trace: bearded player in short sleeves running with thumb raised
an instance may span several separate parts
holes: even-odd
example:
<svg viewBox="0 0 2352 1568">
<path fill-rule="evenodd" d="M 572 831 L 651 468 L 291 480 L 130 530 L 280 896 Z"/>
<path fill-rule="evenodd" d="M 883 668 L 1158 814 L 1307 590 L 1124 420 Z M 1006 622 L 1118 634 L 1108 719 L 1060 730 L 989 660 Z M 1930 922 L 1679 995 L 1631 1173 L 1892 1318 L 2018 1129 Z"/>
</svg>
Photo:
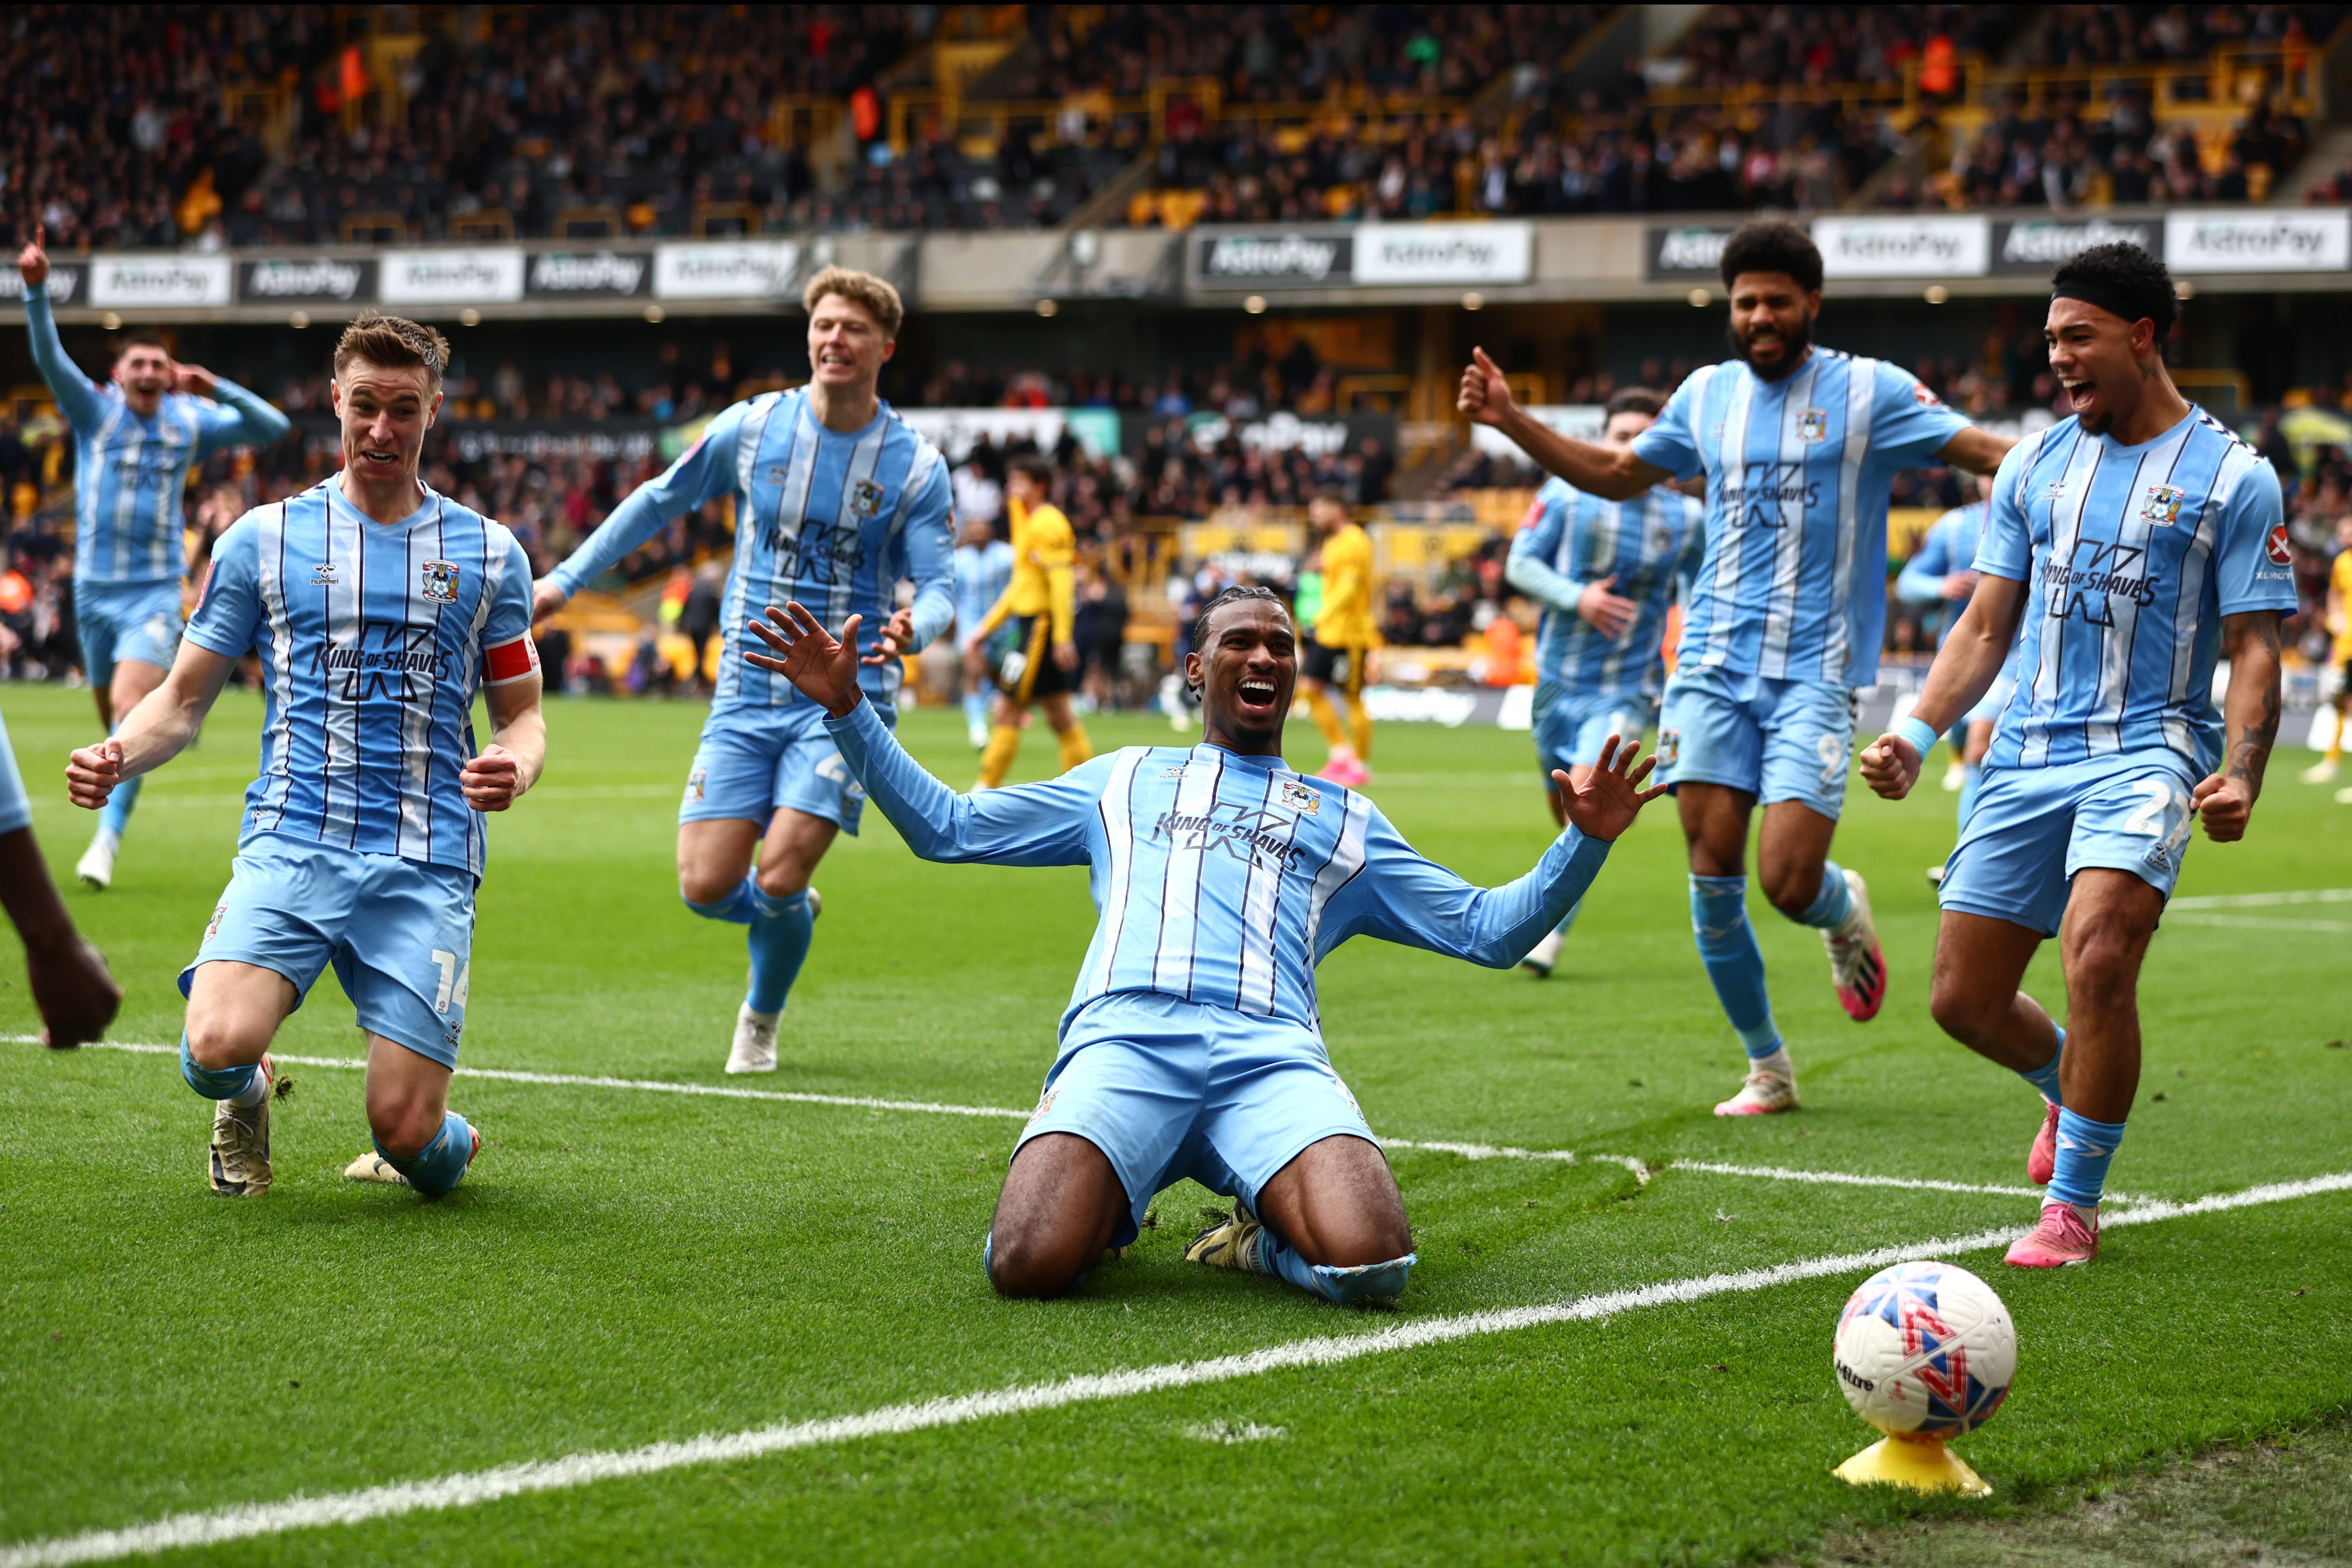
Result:
<svg viewBox="0 0 2352 1568">
<path fill-rule="evenodd" d="M 1757 1117 L 1797 1107 L 1797 1072 L 1748 926 L 1748 818 L 1764 806 L 1764 896 L 1820 931 L 1846 1013 L 1877 1018 L 1886 964 L 1870 896 L 1830 860 L 1830 837 L 1853 693 L 1879 668 L 1886 489 L 1896 468 L 1922 463 L 1992 473 L 2009 442 L 1893 364 L 1813 346 L 1820 252 L 1795 223 L 1740 228 L 1722 275 L 1738 357 L 1693 371 L 1630 449 L 1531 418 L 1484 350 L 1463 371 L 1461 411 L 1592 496 L 1708 477 L 1708 550 L 1665 684 L 1658 762 L 1691 846 L 1698 957 L 1748 1048 L 1748 1077 L 1715 1114 Z"/>
</svg>

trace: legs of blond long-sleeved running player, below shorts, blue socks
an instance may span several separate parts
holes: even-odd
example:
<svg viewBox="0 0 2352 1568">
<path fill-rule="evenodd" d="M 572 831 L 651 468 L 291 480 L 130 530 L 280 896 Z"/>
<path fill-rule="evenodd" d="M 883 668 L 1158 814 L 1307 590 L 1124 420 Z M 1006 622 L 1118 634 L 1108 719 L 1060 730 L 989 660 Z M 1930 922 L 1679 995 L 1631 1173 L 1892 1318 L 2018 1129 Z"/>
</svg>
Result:
<svg viewBox="0 0 2352 1568">
<path fill-rule="evenodd" d="M 753 973 L 736 1009 L 727 1072 L 776 1070 L 776 1020 L 809 952 L 809 926 L 823 907 L 809 877 L 835 835 L 835 823 L 790 806 L 774 811 L 764 835 L 760 823 L 743 818 L 677 825 L 677 896 L 696 914 L 750 926 Z"/>
</svg>

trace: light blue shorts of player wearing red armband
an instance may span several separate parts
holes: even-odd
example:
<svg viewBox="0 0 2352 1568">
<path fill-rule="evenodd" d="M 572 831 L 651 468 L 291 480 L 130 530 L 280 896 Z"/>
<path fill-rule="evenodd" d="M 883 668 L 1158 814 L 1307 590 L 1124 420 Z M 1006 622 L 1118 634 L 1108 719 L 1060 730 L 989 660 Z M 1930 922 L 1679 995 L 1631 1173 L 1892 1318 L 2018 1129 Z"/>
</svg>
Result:
<svg viewBox="0 0 2352 1568">
<path fill-rule="evenodd" d="M 238 846 L 228 889 L 183 971 L 214 959 L 275 969 L 294 1006 L 327 964 L 360 1027 L 442 1067 L 456 1067 L 473 964 L 473 872 L 334 844 L 254 835 Z"/>
</svg>

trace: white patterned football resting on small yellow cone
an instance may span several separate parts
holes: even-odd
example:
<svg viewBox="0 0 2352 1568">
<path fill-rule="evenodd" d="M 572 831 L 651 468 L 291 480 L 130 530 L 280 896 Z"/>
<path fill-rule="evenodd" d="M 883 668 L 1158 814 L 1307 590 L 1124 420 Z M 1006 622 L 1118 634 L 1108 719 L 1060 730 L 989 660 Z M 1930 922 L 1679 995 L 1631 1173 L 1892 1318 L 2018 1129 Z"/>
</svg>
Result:
<svg viewBox="0 0 2352 1568">
<path fill-rule="evenodd" d="M 1846 1298 L 1832 1361 L 1846 1403 L 1879 1432 L 1959 1436 L 2002 1408 L 2018 1331 L 1969 1269 L 1900 1262 Z"/>
</svg>

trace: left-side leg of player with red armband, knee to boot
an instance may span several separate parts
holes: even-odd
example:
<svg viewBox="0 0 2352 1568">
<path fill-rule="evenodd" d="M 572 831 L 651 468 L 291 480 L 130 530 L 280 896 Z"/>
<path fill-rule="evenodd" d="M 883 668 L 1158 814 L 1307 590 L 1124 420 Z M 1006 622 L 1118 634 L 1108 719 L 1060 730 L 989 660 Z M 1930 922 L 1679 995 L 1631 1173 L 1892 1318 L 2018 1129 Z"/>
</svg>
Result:
<svg viewBox="0 0 2352 1568">
<path fill-rule="evenodd" d="M 275 969 L 214 959 L 188 978 L 179 1070 L 212 1100 L 207 1180 L 221 1197 L 270 1190 L 270 1039 L 301 997 Z"/>
</svg>

